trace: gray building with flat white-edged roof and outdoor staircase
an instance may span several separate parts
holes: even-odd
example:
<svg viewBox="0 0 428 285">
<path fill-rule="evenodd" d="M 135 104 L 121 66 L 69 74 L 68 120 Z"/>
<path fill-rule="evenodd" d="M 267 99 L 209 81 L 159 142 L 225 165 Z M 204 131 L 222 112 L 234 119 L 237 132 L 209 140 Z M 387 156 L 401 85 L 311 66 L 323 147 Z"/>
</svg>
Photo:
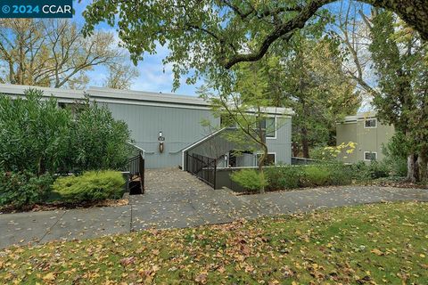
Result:
<svg viewBox="0 0 428 285">
<path fill-rule="evenodd" d="M 105 104 L 114 118 L 124 120 L 131 131 L 136 147 L 144 150 L 145 166 L 185 167 L 187 153 L 220 159 L 219 166 L 252 167 L 257 165 L 258 153 L 244 151 L 235 156 L 238 149 L 221 135 L 233 131 L 226 128 L 213 131 L 202 126 L 208 119 L 211 126 L 219 126 L 220 118 L 214 118 L 210 104 L 201 98 L 176 94 L 115 90 L 91 87 L 87 90 L 66 90 L 28 85 L 0 85 L 0 94 L 21 96 L 29 88 L 53 95 L 60 106 L 72 104 L 88 94 L 91 101 Z M 279 126 L 274 134 L 267 135 L 269 160 L 275 163 L 291 163 L 292 110 L 268 108 L 268 124 Z"/>
</svg>

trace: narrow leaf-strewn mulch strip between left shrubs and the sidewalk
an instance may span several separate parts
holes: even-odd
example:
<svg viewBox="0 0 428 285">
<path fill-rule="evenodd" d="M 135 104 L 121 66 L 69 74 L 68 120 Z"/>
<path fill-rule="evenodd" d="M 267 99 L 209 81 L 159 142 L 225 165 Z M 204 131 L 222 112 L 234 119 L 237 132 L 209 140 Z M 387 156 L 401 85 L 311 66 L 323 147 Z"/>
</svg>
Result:
<svg viewBox="0 0 428 285">
<path fill-rule="evenodd" d="M 129 204 L 128 199 L 105 199 L 103 201 L 85 202 L 85 203 L 79 203 L 79 204 L 53 202 L 53 203 L 45 203 L 45 204 L 34 204 L 32 206 L 24 207 L 24 208 L 4 207 L 4 208 L 0 208 L 0 214 L 52 211 L 52 210 L 70 209 L 70 208 L 119 207 L 119 206 L 125 206 L 128 204 Z"/>
</svg>

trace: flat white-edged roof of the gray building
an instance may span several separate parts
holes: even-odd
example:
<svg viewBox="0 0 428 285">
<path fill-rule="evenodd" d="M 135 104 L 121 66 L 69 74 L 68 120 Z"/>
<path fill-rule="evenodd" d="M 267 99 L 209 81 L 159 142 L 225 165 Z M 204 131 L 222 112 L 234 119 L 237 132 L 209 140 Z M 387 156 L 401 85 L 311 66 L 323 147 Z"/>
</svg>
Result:
<svg viewBox="0 0 428 285">
<path fill-rule="evenodd" d="M 110 102 L 122 104 L 137 104 L 163 107 L 178 107 L 188 109 L 210 109 L 210 102 L 195 96 L 179 94 L 163 94 L 134 90 L 119 90 L 105 87 L 89 87 L 82 89 L 60 89 L 31 85 L 0 84 L 0 94 L 23 95 L 25 90 L 37 88 L 44 92 L 46 97 L 53 95 L 60 102 L 73 102 L 85 98 L 85 94 L 96 102 Z M 289 108 L 268 107 L 265 111 L 269 114 L 292 115 Z"/>
</svg>

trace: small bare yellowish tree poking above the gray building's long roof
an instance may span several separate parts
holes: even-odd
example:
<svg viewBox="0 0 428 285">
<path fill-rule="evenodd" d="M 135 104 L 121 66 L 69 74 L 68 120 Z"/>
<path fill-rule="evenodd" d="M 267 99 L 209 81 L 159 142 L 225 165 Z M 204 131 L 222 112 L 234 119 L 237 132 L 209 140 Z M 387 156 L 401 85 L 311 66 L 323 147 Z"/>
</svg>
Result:
<svg viewBox="0 0 428 285">
<path fill-rule="evenodd" d="M 114 89 L 129 89 L 139 75 L 138 69 L 134 66 L 112 63 L 109 65 L 109 75 L 105 79 L 104 86 Z"/>
</svg>

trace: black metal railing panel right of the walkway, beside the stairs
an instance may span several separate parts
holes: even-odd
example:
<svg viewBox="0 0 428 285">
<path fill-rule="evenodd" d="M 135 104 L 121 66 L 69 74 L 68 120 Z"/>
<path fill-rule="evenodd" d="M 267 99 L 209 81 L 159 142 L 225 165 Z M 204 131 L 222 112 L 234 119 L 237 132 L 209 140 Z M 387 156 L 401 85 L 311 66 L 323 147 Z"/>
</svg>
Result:
<svg viewBox="0 0 428 285">
<path fill-rule="evenodd" d="M 220 158 L 218 158 L 220 159 Z M 218 159 L 204 157 L 200 154 L 185 154 L 185 166 L 187 172 L 197 176 L 204 183 L 216 189 L 216 174 Z"/>
</svg>

